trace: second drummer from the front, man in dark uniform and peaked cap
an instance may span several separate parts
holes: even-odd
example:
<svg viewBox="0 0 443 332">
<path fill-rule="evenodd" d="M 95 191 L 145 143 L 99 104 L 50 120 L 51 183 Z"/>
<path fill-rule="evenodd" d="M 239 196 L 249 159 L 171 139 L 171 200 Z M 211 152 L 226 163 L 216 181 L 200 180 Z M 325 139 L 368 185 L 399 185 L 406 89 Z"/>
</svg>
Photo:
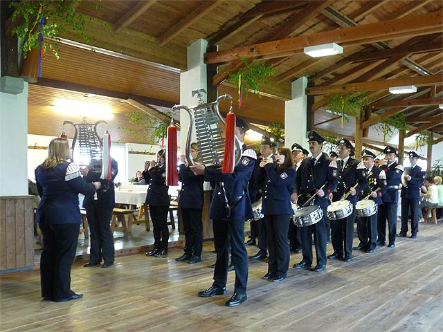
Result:
<svg viewBox="0 0 443 332">
<path fill-rule="evenodd" d="M 343 259 L 344 261 L 352 260 L 352 241 L 354 239 L 354 222 L 355 222 L 355 204 L 359 198 L 359 192 L 368 184 L 366 178 L 366 167 L 363 163 L 355 160 L 350 156 L 354 149 L 352 143 L 346 138 L 338 141 L 338 185 L 337 189 L 332 193 L 332 201 L 340 201 L 342 196 L 350 192 L 347 201 L 354 206 L 352 214 L 343 218 L 331 221 L 331 239 L 334 253 L 329 255 L 329 259 Z M 354 185 L 357 185 L 354 188 Z"/>
</svg>

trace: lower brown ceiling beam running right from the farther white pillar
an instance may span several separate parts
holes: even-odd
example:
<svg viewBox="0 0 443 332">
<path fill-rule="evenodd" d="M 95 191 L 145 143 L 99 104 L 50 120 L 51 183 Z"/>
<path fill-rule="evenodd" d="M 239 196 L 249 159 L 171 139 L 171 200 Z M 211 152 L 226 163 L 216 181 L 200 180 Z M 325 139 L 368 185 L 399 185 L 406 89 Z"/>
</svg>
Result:
<svg viewBox="0 0 443 332">
<path fill-rule="evenodd" d="M 332 86 L 314 86 L 306 89 L 307 95 L 329 95 L 331 93 L 348 93 L 355 91 L 377 91 L 389 89 L 390 86 L 428 86 L 443 84 L 443 74 L 420 76 L 420 77 L 402 77 L 394 80 L 376 80 L 371 82 L 350 83 Z"/>
</svg>

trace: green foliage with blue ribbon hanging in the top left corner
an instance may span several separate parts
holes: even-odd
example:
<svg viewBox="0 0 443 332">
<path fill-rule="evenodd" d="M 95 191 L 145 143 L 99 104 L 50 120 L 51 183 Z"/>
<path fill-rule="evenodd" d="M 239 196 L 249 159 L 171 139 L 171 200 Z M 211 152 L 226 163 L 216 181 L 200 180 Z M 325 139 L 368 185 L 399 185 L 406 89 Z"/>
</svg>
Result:
<svg viewBox="0 0 443 332">
<path fill-rule="evenodd" d="M 12 21 L 18 21 L 17 26 L 12 29 L 12 35 L 16 35 L 23 41 L 21 46 L 23 55 L 26 57 L 33 48 L 39 48 L 39 24 L 44 17 L 43 24 L 43 51 L 47 49 L 59 59 L 59 46 L 56 42 L 48 39 L 57 39 L 60 33 L 66 33 L 65 26 L 71 26 L 77 35 L 89 42 L 87 35 L 84 33 L 86 29 L 86 21 L 84 16 L 75 11 L 75 3 L 78 0 L 39 0 L 39 1 L 12 1 L 10 8 L 12 12 Z M 98 7 L 96 7 L 98 8 Z"/>
</svg>

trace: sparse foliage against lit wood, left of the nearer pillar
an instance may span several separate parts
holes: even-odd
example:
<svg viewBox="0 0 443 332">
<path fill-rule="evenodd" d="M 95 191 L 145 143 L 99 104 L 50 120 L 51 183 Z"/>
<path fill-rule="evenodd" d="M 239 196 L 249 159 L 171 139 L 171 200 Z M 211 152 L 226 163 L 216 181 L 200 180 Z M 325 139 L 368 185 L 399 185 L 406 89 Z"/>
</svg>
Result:
<svg viewBox="0 0 443 332">
<path fill-rule="evenodd" d="M 171 112 L 165 114 L 170 117 L 172 116 Z M 163 122 L 143 111 L 127 113 L 126 116 L 129 116 L 129 123 L 134 124 L 135 128 L 118 127 L 118 129 L 123 129 L 125 133 L 130 133 L 132 138 L 139 138 L 141 143 L 154 145 L 159 142 L 159 140 L 166 138 L 170 122 Z"/>
</svg>

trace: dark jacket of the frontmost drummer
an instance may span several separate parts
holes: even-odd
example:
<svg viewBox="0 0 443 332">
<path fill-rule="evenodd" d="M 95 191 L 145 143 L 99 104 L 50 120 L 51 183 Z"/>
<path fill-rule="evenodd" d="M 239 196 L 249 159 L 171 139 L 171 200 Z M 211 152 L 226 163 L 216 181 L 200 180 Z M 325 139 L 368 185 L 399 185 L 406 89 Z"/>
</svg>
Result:
<svg viewBox="0 0 443 332">
<path fill-rule="evenodd" d="M 312 157 L 303 159 L 297 169 L 293 190 L 293 192 L 301 194 L 298 205 L 302 206 L 322 185 L 325 185 L 323 187 L 325 196 L 317 196 L 314 199 L 314 204 L 326 208 L 329 205 L 328 195 L 337 187 L 337 163 L 325 153 L 321 154 L 315 166 Z"/>
</svg>

